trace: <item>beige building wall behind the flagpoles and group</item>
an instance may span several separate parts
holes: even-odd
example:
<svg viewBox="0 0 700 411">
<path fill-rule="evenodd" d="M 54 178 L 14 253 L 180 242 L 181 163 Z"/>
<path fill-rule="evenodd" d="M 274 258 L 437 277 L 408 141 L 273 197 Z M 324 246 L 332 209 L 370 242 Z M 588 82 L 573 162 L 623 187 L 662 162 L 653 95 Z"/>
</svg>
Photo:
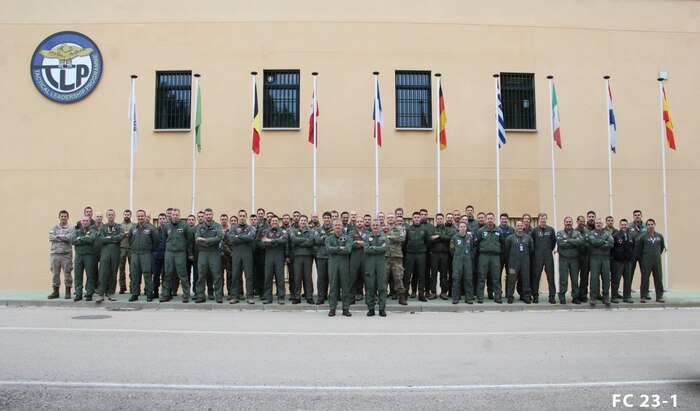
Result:
<svg viewBox="0 0 700 411">
<path fill-rule="evenodd" d="M 394 71 L 430 70 L 443 75 L 448 115 L 442 211 L 468 203 L 495 211 L 492 75 L 526 72 L 535 74 L 537 132 L 507 134 L 502 210 L 552 214 L 551 74 L 564 144 L 556 151 L 558 220 L 588 209 L 607 215 L 607 74 L 618 124 L 615 217 L 630 218 L 641 208 L 661 232 L 656 78 L 667 71 L 678 145 L 667 151 L 668 274 L 673 289 L 700 289 L 691 240 L 700 199 L 698 2 L 14 0 L 0 7 L 0 213 L 8 225 L 0 240 L 3 289 L 50 287 L 47 231 L 58 210 L 69 210 L 75 223 L 88 204 L 119 215 L 128 206 L 131 74 L 139 76 L 140 119 L 134 207 L 154 215 L 168 206 L 190 209 L 192 133 L 154 132 L 153 117 L 155 72 L 192 70 L 202 74 L 197 209 L 249 209 L 249 73 L 264 69 L 301 71 L 301 128 L 263 130 L 256 206 L 311 212 L 312 146 L 306 139 L 311 72 L 318 71 L 318 208 L 374 211 L 377 70 L 385 118 L 380 208 L 426 207 L 434 214 L 434 131 L 394 128 Z M 64 30 L 90 37 L 104 60 L 96 90 L 69 105 L 40 95 L 27 64 L 44 38 Z"/>
</svg>

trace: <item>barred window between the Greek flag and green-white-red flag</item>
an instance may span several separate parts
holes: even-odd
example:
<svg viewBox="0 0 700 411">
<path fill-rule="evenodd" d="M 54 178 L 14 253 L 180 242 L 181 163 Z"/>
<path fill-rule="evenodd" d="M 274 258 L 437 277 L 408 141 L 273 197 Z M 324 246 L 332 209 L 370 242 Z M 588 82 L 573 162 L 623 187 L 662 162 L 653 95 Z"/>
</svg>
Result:
<svg viewBox="0 0 700 411">
<path fill-rule="evenodd" d="M 537 129 L 534 74 L 501 73 L 501 97 L 506 129 Z"/>
</svg>

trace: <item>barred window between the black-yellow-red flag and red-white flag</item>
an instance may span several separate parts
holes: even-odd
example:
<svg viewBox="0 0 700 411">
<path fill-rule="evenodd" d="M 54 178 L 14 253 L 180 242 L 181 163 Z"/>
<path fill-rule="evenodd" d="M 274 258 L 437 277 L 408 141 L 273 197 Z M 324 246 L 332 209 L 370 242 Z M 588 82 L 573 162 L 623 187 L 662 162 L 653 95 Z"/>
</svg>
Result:
<svg viewBox="0 0 700 411">
<path fill-rule="evenodd" d="M 299 70 L 263 72 L 263 128 L 299 128 Z"/>
</svg>

